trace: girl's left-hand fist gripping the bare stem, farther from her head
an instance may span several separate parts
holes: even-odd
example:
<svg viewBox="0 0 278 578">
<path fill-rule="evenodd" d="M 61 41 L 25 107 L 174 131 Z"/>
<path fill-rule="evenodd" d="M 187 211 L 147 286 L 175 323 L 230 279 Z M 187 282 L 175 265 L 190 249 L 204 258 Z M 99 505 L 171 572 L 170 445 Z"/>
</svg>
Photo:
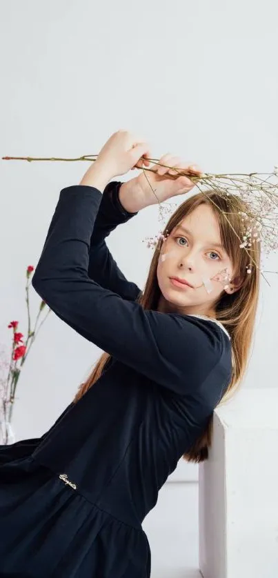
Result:
<svg viewBox="0 0 278 578">
<path fill-rule="evenodd" d="M 148 143 L 127 130 L 118 130 L 101 148 L 94 166 L 98 167 L 102 174 L 108 175 L 109 180 L 124 175 L 132 167 L 135 168 L 139 159 L 141 166 L 142 163 L 149 166 L 150 161 L 146 161 L 146 157 L 150 157 Z"/>
</svg>

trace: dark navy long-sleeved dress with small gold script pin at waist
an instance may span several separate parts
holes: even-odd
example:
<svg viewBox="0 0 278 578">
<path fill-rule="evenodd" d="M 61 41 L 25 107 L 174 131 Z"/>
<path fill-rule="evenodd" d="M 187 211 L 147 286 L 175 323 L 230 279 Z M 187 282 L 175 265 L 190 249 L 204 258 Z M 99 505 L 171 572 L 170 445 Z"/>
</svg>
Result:
<svg viewBox="0 0 278 578">
<path fill-rule="evenodd" d="M 133 214 L 121 183 L 60 192 L 32 285 L 112 355 L 38 439 L 0 446 L 0 577 L 149 578 L 141 526 L 232 371 L 217 323 L 144 310 L 105 238 Z"/>
</svg>

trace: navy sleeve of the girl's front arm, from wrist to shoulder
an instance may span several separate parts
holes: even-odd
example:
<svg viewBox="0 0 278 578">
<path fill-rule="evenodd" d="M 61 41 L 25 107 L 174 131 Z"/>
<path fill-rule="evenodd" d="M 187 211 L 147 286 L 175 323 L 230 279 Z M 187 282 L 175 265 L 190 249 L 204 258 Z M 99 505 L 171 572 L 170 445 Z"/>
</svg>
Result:
<svg viewBox="0 0 278 578">
<path fill-rule="evenodd" d="M 56 315 L 88 341 L 180 394 L 202 388 L 224 348 L 215 323 L 144 310 L 88 276 L 90 239 L 101 192 L 61 190 L 32 286 Z"/>
</svg>

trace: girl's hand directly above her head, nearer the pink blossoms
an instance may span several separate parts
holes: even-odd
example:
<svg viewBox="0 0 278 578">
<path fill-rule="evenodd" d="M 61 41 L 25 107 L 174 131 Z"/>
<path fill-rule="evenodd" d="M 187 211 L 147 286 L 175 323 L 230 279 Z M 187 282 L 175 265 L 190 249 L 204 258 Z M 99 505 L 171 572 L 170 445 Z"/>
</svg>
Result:
<svg viewBox="0 0 278 578">
<path fill-rule="evenodd" d="M 163 202 L 176 195 L 183 195 L 195 186 L 194 181 L 191 181 L 190 177 L 181 176 L 173 179 L 172 177 L 178 174 L 173 167 L 188 172 L 190 176 L 198 177 L 202 174 L 201 169 L 197 165 L 188 165 L 188 163 L 181 161 L 179 157 L 174 157 L 171 153 L 163 155 L 159 159 L 159 163 L 170 168 L 153 164 L 145 174 L 142 171 L 138 177 L 128 181 L 130 182 L 130 188 L 132 183 L 137 191 L 141 192 L 145 206 L 156 204 L 158 202 L 157 199 L 159 199 L 159 202 Z M 142 168 L 141 161 L 137 163 L 137 168 Z M 152 189 L 155 190 L 155 195 Z"/>
</svg>

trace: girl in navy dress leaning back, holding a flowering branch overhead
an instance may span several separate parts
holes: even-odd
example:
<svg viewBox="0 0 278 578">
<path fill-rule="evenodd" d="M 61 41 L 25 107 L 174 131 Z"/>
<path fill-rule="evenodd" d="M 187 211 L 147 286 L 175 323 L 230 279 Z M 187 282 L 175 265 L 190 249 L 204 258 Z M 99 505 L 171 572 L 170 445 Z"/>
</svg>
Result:
<svg viewBox="0 0 278 578">
<path fill-rule="evenodd" d="M 163 201 L 194 186 L 156 165 L 110 182 L 146 157 L 146 143 L 116 132 L 61 190 L 32 284 L 104 353 L 46 434 L 0 448 L 2 578 L 149 578 L 143 519 L 181 456 L 206 459 L 213 410 L 246 367 L 259 273 L 246 274 L 236 237 L 242 201 L 186 199 L 143 291 L 110 255 L 106 237 L 157 202 L 152 189 Z M 190 174 L 171 155 L 161 163 Z"/>
</svg>

